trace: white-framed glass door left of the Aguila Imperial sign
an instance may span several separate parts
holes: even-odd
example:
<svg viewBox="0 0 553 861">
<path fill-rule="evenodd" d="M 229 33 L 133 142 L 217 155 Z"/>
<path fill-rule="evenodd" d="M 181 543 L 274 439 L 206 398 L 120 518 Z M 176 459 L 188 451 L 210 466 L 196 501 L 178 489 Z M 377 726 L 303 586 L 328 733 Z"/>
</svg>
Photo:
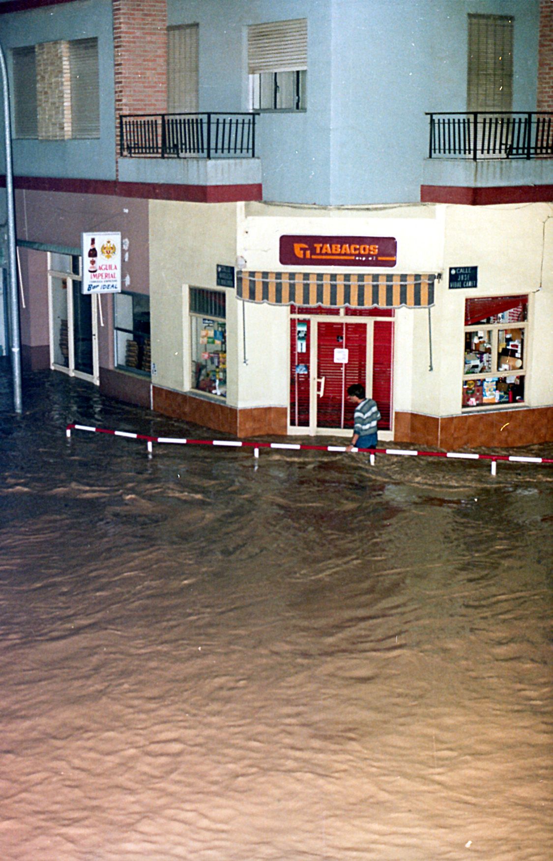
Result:
<svg viewBox="0 0 553 861">
<path fill-rule="evenodd" d="M 51 367 L 98 385 L 97 296 L 81 293 L 80 257 L 48 257 Z"/>
</svg>

